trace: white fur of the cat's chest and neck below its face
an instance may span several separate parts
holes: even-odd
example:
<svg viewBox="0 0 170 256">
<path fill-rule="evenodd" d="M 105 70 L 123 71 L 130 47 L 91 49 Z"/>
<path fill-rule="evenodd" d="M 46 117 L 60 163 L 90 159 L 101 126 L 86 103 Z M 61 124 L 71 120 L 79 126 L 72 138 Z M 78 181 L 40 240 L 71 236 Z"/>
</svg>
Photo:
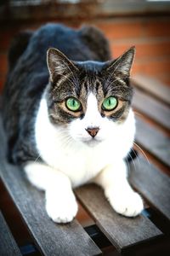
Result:
<svg viewBox="0 0 170 256">
<path fill-rule="evenodd" d="M 47 103 L 42 99 L 35 125 L 38 152 L 48 166 L 70 177 L 73 187 L 79 186 L 95 177 L 114 159 L 122 159 L 127 154 L 133 143 L 132 113 L 128 119 L 125 125 L 116 129 L 115 137 L 111 135 L 102 143 L 89 147 L 71 138 L 67 127 L 61 129 L 50 123 Z"/>
</svg>

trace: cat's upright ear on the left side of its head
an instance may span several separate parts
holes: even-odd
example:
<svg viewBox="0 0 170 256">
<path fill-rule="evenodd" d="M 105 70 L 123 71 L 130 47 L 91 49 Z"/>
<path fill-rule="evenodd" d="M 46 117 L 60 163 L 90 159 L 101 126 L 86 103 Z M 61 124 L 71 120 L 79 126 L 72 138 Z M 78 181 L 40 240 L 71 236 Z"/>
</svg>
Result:
<svg viewBox="0 0 170 256">
<path fill-rule="evenodd" d="M 50 80 L 52 82 L 62 79 L 70 73 L 74 73 L 78 68 L 59 49 L 50 48 L 47 52 L 47 63 Z"/>
</svg>

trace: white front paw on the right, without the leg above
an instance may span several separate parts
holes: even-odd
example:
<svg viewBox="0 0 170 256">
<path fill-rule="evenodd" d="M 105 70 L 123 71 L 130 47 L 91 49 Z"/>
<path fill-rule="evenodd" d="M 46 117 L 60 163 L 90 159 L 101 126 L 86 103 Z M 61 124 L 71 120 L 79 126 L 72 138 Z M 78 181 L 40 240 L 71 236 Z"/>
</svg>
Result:
<svg viewBox="0 0 170 256">
<path fill-rule="evenodd" d="M 114 210 L 127 217 L 135 217 L 144 209 L 140 195 L 133 191 L 107 197 Z"/>
</svg>

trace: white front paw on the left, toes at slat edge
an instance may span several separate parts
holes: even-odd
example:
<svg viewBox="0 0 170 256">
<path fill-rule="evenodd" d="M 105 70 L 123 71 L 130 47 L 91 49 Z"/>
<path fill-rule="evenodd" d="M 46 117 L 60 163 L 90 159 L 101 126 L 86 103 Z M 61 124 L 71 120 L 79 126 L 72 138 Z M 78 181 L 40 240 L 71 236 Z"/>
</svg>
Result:
<svg viewBox="0 0 170 256">
<path fill-rule="evenodd" d="M 69 223 L 77 215 L 77 201 L 72 193 L 56 195 L 46 191 L 46 210 L 49 218 L 56 223 Z"/>
</svg>

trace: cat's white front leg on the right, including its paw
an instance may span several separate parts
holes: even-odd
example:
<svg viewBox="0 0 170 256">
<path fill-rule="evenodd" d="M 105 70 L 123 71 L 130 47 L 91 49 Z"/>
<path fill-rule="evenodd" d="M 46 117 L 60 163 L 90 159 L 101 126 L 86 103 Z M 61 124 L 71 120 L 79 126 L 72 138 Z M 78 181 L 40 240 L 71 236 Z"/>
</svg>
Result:
<svg viewBox="0 0 170 256">
<path fill-rule="evenodd" d="M 105 167 L 94 178 L 94 183 L 104 189 L 106 198 L 116 212 L 127 217 L 134 217 L 143 210 L 140 195 L 134 192 L 127 182 L 127 170 L 123 161 L 117 161 L 114 165 Z"/>
</svg>

